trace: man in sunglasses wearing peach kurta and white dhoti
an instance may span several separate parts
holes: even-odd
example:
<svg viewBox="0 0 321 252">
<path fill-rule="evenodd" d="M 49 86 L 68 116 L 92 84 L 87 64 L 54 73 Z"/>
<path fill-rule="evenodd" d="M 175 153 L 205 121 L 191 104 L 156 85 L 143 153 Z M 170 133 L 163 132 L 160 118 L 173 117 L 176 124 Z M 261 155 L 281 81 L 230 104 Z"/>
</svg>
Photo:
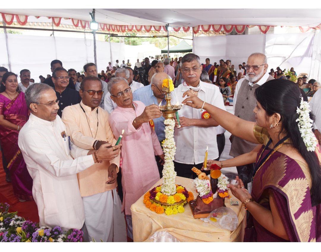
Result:
<svg viewBox="0 0 321 252">
<path fill-rule="evenodd" d="M 62 120 L 71 141 L 82 148 L 85 154 L 88 150 L 98 149 L 102 143 L 115 145 L 116 140 L 108 123 L 107 111 L 98 107 L 102 95 L 98 95 L 97 92 L 90 95 L 88 91 L 84 91 L 102 90 L 100 80 L 93 76 L 86 77 L 82 84 L 82 101 L 80 104 L 66 107 Z M 92 100 L 96 100 L 97 104 L 92 104 Z M 75 153 L 74 158 L 78 155 L 82 153 Z M 120 156 L 117 156 L 110 161 L 96 163 L 77 174 L 85 210 L 85 241 L 92 238 L 96 241 L 127 241 L 125 216 L 121 211 L 122 205 L 116 191 L 116 179 L 110 184 L 106 182 L 109 176 L 108 167 L 114 164 L 118 172 L 119 159 Z"/>
</svg>

